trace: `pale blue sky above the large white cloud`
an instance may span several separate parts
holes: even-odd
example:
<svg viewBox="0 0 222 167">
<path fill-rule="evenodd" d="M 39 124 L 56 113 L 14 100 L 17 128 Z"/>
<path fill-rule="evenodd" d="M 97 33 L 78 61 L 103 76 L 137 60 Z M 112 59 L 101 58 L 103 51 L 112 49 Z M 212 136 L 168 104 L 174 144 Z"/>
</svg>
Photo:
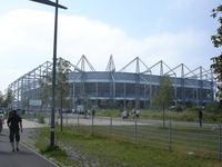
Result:
<svg viewBox="0 0 222 167">
<path fill-rule="evenodd" d="M 160 31 L 176 32 L 186 28 L 214 32 L 210 17 L 220 0 L 60 0 L 69 10 L 62 14 L 78 14 L 124 29 L 133 38 Z M 2 1 L 0 14 L 17 9 L 53 12 L 53 9 L 29 0 Z"/>
</svg>

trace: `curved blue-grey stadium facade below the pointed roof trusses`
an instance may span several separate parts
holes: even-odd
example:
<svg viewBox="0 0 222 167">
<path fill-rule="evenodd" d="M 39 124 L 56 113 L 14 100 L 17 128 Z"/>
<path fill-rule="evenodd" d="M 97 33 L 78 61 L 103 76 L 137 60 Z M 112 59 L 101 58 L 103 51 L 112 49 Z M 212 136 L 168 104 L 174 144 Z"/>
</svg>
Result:
<svg viewBox="0 0 222 167">
<path fill-rule="evenodd" d="M 206 104 L 213 101 L 211 81 L 170 78 L 174 87 L 174 101 Z M 128 72 L 71 72 L 73 101 L 88 99 L 140 100 L 150 102 L 160 88 L 160 76 Z"/>
</svg>

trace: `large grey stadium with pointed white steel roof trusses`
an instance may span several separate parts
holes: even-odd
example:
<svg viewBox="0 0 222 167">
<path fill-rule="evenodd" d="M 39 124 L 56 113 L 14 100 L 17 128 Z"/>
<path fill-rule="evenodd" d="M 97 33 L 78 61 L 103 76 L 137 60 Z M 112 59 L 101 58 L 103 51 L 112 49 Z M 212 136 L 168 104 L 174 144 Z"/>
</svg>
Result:
<svg viewBox="0 0 222 167">
<path fill-rule="evenodd" d="M 52 63 L 47 61 L 10 84 L 8 89 L 12 91 L 14 106 L 24 109 L 27 100 L 29 106 L 41 106 L 39 80 L 51 71 Z M 137 57 L 117 70 L 110 56 L 105 70 L 97 71 L 82 56 L 77 65 L 71 65 L 69 72 L 71 106 L 74 108 L 87 99 L 99 107 L 108 104 L 125 107 L 130 102 L 145 108 L 158 95 L 162 76 L 168 76 L 172 82 L 174 105 L 202 106 L 214 100 L 213 73 L 203 67 L 190 69 L 181 63 L 170 68 L 162 60 L 148 67 Z"/>
</svg>

